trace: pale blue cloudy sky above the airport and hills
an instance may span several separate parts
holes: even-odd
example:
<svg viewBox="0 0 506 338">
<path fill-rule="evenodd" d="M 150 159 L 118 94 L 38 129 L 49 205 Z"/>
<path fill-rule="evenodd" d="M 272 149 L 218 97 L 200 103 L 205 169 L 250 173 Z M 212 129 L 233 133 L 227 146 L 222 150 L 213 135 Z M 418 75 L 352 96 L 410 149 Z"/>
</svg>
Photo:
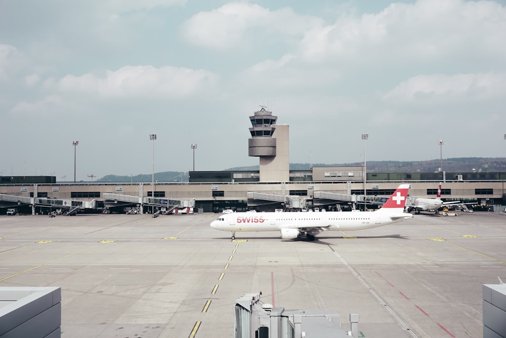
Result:
<svg viewBox="0 0 506 338">
<path fill-rule="evenodd" d="M 504 157 L 506 1 L 0 1 L 0 173 Z M 77 147 L 73 141 L 79 141 Z"/>
</svg>

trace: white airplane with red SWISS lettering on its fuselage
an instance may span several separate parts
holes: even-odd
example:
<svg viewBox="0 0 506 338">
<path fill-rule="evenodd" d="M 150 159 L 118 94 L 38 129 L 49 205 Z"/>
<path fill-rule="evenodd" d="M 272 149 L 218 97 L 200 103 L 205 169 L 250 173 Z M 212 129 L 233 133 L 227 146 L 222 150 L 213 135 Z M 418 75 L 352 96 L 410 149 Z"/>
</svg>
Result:
<svg viewBox="0 0 506 338">
<path fill-rule="evenodd" d="M 409 184 L 401 184 L 381 209 L 369 211 L 327 212 L 235 212 L 223 214 L 210 227 L 231 231 L 232 239 L 238 231 L 279 231 L 282 239 L 306 236 L 314 241 L 315 235 L 328 230 L 363 230 L 385 226 L 413 217 L 404 213 Z"/>
</svg>

